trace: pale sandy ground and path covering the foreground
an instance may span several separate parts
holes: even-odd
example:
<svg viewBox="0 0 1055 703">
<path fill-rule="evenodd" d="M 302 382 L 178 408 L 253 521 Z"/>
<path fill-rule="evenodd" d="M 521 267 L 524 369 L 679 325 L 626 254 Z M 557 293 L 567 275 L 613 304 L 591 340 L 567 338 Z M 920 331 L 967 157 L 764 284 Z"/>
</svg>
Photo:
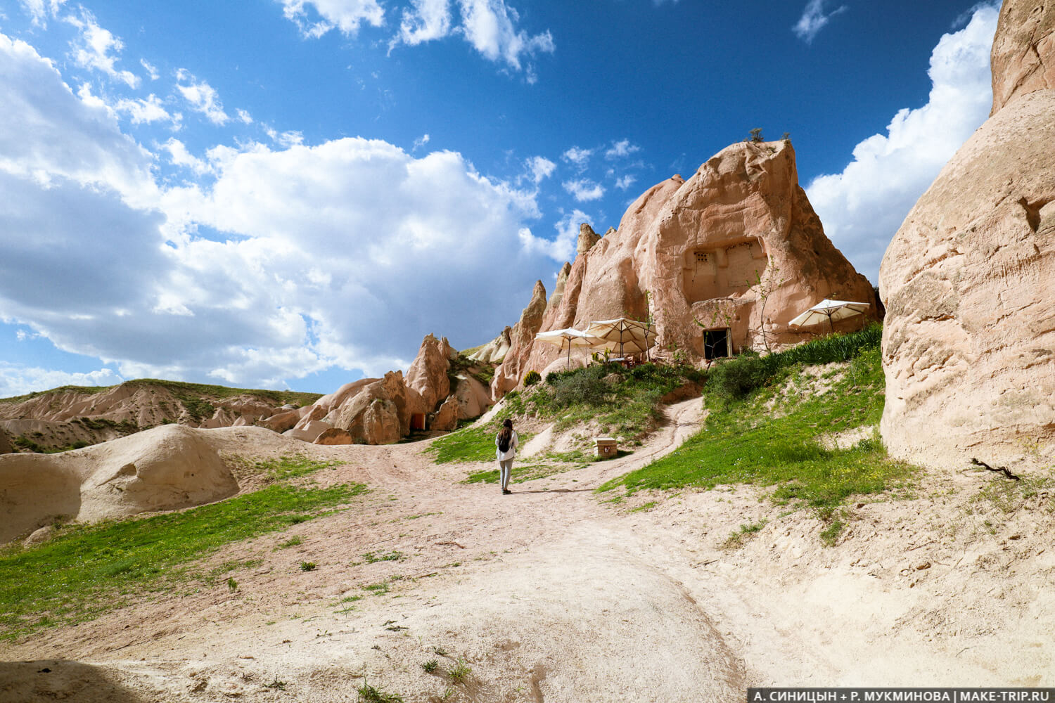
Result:
<svg viewBox="0 0 1055 703">
<path fill-rule="evenodd" d="M 421 444 L 207 431 L 228 454 L 340 458 L 318 480 L 371 491 L 216 554 L 263 560 L 232 572 L 236 592 L 173 593 L 0 645 L 0 701 L 356 701 L 364 681 L 407 702 L 496 703 L 1055 684 L 1047 493 L 1004 505 L 979 497 L 1005 481 L 995 474 L 928 474 L 910 500 L 851 506 L 824 547 L 818 520 L 751 488 L 617 504 L 593 492 L 675 449 L 699 410 L 698 398 L 672 406 L 632 454 L 504 496 L 458 483 L 485 465 L 438 466 Z M 279 546 L 293 535 L 303 543 Z M 305 561 L 318 568 L 302 571 Z"/>
</svg>

